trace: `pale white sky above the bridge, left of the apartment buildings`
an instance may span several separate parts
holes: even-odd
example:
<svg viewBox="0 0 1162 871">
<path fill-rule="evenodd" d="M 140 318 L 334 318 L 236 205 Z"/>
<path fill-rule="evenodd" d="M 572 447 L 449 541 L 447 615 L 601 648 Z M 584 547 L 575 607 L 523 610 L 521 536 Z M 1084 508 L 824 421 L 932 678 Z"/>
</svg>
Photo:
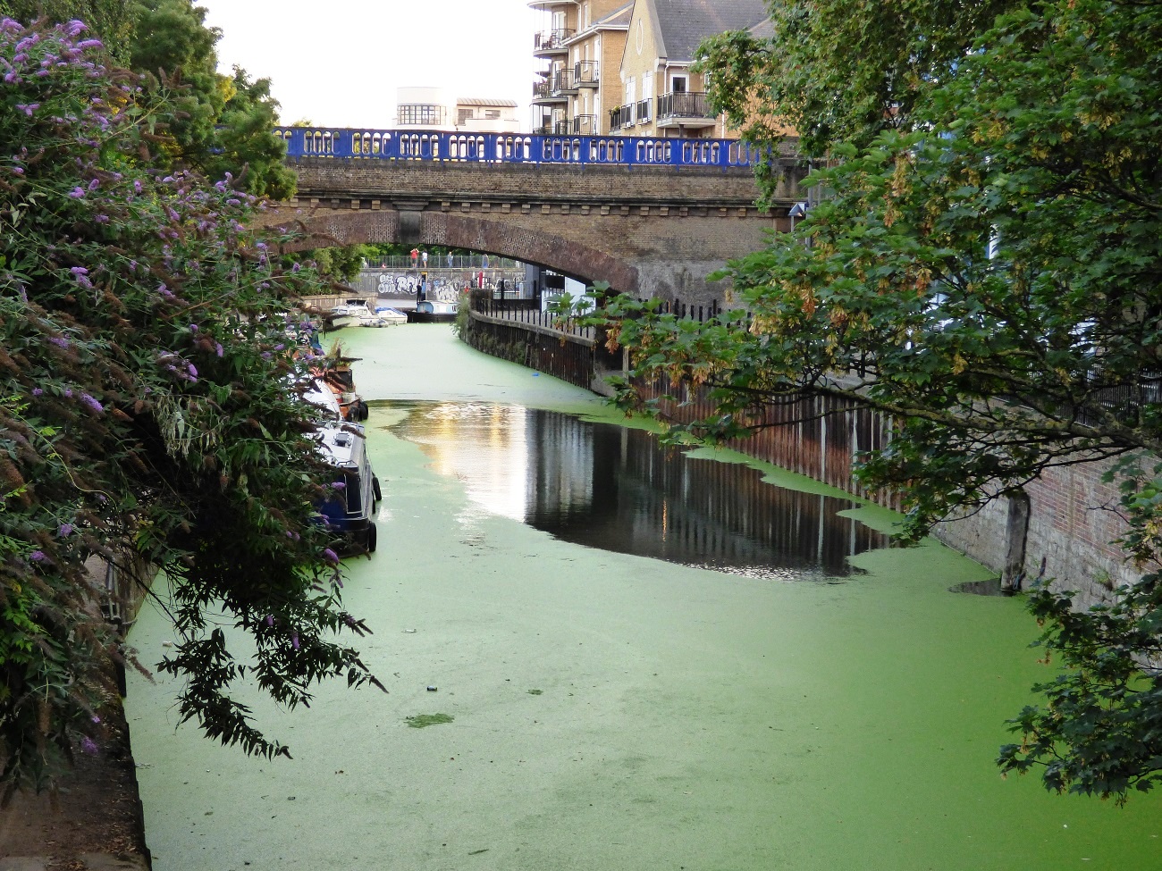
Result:
<svg viewBox="0 0 1162 871">
<path fill-rule="evenodd" d="M 526 0 L 195 0 L 222 30 L 220 71 L 271 80 L 280 120 L 394 127 L 400 87 L 515 100 L 529 123 L 532 37 Z"/>
</svg>

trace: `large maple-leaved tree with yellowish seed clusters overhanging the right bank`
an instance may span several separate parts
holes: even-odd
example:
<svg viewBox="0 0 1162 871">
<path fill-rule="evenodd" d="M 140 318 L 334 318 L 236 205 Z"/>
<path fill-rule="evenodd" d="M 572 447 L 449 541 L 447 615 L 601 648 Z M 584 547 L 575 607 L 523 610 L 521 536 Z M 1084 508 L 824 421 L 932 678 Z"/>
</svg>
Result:
<svg viewBox="0 0 1162 871">
<path fill-rule="evenodd" d="M 781 50 L 803 51 L 776 31 Z M 733 93 L 762 93 L 763 74 L 743 70 Z M 820 122 L 818 142 L 854 142 L 809 179 L 831 193 L 794 235 L 730 265 L 746 317 L 698 326 L 626 300 L 605 312 L 637 374 L 710 390 L 717 413 L 684 427 L 698 436 L 744 434 L 754 409 L 804 395 L 890 415 L 891 444 L 858 474 L 903 492 L 905 538 L 1048 468 L 1118 461 L 1119 544 L 1145 574 L 1088 612 L 1032 595 L 1064 670 L 1034 688 L 1043 701 L 1012 721 L 1021 741 L 999 764 L 1119 801 L 1162 777 L 1159 106 L 1162 6 L 1017 9 L 925 85 L 906 125 L 874 132 L 858 109 Z M 627 383 L 619 401 L 640 404 Z"/>
</svg>

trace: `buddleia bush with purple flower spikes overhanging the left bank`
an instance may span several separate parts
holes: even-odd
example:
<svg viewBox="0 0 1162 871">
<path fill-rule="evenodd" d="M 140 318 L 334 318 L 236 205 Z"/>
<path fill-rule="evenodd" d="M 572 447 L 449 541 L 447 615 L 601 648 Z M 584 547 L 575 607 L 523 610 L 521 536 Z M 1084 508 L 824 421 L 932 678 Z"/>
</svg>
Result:
<svg viewBox="0 0 1162 871">
<path fill-rule="evenodd" d="M 0 20 L 5 798 L 100 741 L 124 653 L 91 554 L 168 576 L 178 642 L 159 668 L 210 737 L 287 753 L 231 698 L 244 678 L 289 708 L 328 677 L 378 685 L 339 641 L 368 629 L 342 607 L 315 509 L 322 412 L 287 346 L 289 300 L 317 279 L 245 229 L 253 197 L 150 167 L 153 107 L 81 30 Z M 249 662 L 223 624 L 249 634 Z"/>
</svg>

